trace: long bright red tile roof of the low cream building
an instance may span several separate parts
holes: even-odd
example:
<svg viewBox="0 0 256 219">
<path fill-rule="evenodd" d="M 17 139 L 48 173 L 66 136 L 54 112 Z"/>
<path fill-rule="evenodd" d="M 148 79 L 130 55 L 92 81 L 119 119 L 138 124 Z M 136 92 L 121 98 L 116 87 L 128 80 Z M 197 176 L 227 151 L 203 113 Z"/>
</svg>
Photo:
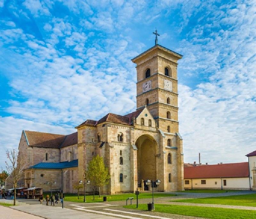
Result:
<svg viewBox="0 0 256 219">
<path fill-rule="evenodd" d="M 184 179 L 248 176 L 248 162 L 184 167 Z"/>
</svg>

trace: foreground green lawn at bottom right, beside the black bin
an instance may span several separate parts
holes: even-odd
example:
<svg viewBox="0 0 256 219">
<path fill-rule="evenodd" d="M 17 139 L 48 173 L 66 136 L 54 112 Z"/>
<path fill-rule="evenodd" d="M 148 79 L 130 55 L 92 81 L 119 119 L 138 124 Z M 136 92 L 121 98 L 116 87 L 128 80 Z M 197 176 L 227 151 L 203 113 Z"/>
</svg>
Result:
<svg viewBox="0 0 256 219">
<path fill-rule="evenodd" d="M 147 204 L 124 206 L 125 208 L 147 210 Z M 209 219 L 248 219 L 256 218 L 256 211 L 253 210 L 239 210 L 219 207 L 197 207 L 197 206 L 181 206 L 181 205 L 164 205 L 155 204 L 155 211 L 162 213 L 169 213 L 175 215 L 186 215 L 203 217 Z"/>
</svg>

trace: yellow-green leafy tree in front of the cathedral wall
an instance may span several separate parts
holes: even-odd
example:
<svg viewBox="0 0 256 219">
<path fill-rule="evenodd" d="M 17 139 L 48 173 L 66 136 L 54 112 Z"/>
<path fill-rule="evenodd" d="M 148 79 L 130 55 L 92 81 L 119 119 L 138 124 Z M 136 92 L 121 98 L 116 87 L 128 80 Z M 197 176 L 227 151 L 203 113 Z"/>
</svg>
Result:
<svg viewBox="0 0 256 219">
<path fill-rule="evenodd" d="M 94 200 L 94 188 L 99 187 L 99 197 L 100 197 L 100 186 L 108 184 L 108 179 L 110 178 L 108 174 L 108 168 L 105 167 L 103 158 L 97 155 L 93 157 L 88 164 L 87 176 L 91 181 L 93 186 L 93 200 Z"/>
</svg>

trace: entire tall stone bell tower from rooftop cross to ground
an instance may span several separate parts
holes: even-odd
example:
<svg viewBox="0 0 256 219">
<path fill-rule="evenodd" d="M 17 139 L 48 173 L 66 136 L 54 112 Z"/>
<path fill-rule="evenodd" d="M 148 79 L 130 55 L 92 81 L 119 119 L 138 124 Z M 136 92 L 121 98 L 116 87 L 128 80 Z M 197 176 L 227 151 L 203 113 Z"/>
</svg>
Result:
<svg viewBox="0 0 256 219">
<path fill-rule="evenodd" d="M 159 169 L 163 173 L 164 191 L 183 190 L 183 148 L 178 121 L 177 52 L 155 46 L 132 59 L 137 69 L 137 110 L 145 105 L 159 131 Z"/>
</svg>

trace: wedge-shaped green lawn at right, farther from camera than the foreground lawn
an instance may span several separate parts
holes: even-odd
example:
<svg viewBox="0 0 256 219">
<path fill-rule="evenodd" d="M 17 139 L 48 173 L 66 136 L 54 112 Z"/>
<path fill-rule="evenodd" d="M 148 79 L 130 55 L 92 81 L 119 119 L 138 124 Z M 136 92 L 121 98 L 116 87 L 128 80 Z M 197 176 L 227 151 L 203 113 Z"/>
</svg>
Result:
<svg viewBox="0 0 256 219">
<path fill-rule="evenodd" d="M 232 195 L 199 199 L 182 199 L 175 202 L 188 202 L 200 204 L 220 204 L 220 205 L 241 205 L 256 207 L 256 194 L 249 195 Z"/>
</svg>

